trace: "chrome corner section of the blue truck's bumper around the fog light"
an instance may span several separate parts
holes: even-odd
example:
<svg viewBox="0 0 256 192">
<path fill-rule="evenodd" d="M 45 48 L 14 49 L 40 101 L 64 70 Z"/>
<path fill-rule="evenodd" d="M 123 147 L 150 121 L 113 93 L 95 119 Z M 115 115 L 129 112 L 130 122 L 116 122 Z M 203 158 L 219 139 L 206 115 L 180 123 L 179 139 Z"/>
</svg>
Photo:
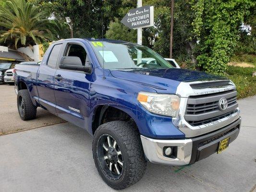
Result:
<svg viewBox="0 0 256 192">
<path fill-rule="evenodd" d="M 192 155 L 192 140 L 157 140 L 140 136 L 146 158 L 151 163 L 182 166 L 190 162 Z M 163 156 L 164 146 L 177 146 L 177 157 Z"/>
</svg>

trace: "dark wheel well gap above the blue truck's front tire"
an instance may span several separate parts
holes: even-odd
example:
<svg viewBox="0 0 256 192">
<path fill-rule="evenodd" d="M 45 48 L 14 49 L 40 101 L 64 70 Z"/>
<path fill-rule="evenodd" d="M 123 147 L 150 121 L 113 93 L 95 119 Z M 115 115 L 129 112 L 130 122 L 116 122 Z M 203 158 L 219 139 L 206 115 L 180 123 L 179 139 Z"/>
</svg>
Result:
<svg viewBox="0 0 256 192">
<path fill-rule="evenodd" d="M 130 115 L 121 109 L 110 107 L 110 106 L 99 106 L 94 113 L 92 123 L 92 133 L 97 130 L 98 126 L 103 123 L 107 123 L 114 120 L 133 120 Z"/>
</svg>

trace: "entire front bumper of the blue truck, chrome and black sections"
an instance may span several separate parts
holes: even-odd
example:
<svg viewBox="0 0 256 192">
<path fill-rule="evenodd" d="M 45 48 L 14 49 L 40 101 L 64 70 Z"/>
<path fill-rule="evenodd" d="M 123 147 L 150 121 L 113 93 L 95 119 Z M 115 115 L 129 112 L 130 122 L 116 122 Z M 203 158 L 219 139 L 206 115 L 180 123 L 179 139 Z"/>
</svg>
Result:
<svg viewBox="0 0 256 192">
<path fill-rule="evenodd" d="M 152 163 L 182 166 L 193 164 L 217 152 L 219 141 L 230 137 L 230 143 L 236 139 L 240 131 L 241 118 L 231 124 L 205 135 L 176 140 L 156 140 L 141 135 L 146 159 Z M 174 156 L 164 155 L 164 148 L 173 146 L 177 150 Z"/>
</svg>

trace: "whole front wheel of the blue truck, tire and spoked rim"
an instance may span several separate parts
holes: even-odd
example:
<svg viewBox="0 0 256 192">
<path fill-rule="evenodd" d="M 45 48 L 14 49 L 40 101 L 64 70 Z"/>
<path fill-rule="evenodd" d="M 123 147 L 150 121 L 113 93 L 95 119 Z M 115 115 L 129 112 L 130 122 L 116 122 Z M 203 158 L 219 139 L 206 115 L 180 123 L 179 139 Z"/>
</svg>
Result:
<svg viewBox="0 0 256 192">
<path fill-rule="evenodd" d="M 93 158 L 101 178 L 114 189 L 124 189 L 142 178 L 146 160 L 134 123 L 111 121 L 98 127 Z"/>
</svg>

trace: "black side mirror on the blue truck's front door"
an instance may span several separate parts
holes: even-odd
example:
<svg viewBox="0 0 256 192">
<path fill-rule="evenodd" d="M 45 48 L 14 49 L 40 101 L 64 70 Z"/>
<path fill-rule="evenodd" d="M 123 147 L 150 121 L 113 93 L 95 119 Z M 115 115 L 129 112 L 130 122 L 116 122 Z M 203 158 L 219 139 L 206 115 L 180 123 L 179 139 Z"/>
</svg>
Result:
<svg viewBox="0 0 256 192">
<path fill-rule="evenodd" d="M 59 67 L 60 69 L 66 70 L 82 71 L 88 73 L 92 72 L 91 64 L 86 63 L 86 65 L 83 66 L 80 58 L 76 56 L 61 57 Z"/>
</svg>

